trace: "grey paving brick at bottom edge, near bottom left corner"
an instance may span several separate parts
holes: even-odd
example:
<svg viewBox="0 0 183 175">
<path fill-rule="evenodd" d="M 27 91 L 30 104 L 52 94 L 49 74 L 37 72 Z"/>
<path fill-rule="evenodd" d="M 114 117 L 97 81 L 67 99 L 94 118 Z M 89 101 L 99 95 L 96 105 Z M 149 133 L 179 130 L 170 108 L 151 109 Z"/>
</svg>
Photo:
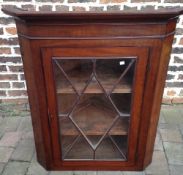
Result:
<svg viewBox="0 0 183 175">
<path fill-rule="evenodd" d="M 9 162 L 2 175 L 24 175 L 28 167 L 28 162 Z"/>
</svg>

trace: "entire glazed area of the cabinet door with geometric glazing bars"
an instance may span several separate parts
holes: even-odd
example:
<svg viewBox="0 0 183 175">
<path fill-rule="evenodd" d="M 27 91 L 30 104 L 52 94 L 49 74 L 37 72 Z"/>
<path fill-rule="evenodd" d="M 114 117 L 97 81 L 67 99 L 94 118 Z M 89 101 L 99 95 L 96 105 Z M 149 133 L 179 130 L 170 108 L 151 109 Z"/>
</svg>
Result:
<svg viewBox="0 0 183 175">
<path fill-rule="evenodd" d="M 128 159 L 133 58 L 53 59 L 62 160 Z"/>
</svg>

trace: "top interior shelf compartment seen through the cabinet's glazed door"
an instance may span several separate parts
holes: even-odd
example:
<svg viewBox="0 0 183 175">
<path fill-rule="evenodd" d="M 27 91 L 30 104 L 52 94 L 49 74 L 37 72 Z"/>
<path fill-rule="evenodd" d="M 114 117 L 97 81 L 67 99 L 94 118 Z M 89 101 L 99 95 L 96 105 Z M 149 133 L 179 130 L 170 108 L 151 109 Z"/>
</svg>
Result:
<svg viewBox="0 0 183 175">
<path fill-rule="evenodd" d="M 71 83 L 78 92 L 82 92 L 88 80 L 90 79 L 90 76 L 92 74 L 94 75 L 94 72 L 92 72 L 91 61 L 82 61 L 72 60 L 68 62 L 67 60 L 57 60 L 57 62 L 53 65 L 57 93 L 74 93 Z M 120 61 L 118 60 L 97 61 L 98 64 L 96 65 L 96 76 L 98 81 L 107 92 L 111 91 L 115 83 L 118 82 L 121 74 L 128 66 L 128 64 L 120 66 L 119 62 Z M 63 71 L 65 73 L 63 73 Z M 131 93 L 133 84 L 132 74 L 133 68 L 130 68 L 130 70 L 128 70 L 125 76 L 120 80 L 120 82 L 118 82 L 112 93 Z M 97 80 L 93 78 L 84 93 L 103 93 L 103 90 L 99 86 Z"/>
</svg>

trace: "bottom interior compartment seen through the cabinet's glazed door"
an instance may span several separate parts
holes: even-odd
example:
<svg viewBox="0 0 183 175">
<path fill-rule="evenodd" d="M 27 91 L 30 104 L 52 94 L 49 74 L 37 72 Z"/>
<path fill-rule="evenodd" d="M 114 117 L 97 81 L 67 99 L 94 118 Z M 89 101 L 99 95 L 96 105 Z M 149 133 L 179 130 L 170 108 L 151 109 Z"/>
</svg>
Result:
<svg viewBox="0 0 183 175">
<path fill-rule="evenodd" d="M 93 136 L 93 139 L 97 139 L 97 137 Z M 75 139 L 72 136 L 64 136 L 61 138 L 63 141 L 63 152 L 66 153 L 70 145 L 73 143 Z M 127 137 L 126 136 L 113 136 L 113 141 L 118 145 L 117 149 L 114 143 L 106 137 L 99 147 L 95 151 L 95 158 L 93 154 L 93 150 L 90 148 L 88 143 L 83 137 L 80 137 L 78 141 L 73 145 L 72 149 L 66 154 L 64 160 L 70 159 L 98 159 L 98 160 L 105 160 L 105 159 L 112 159 L 112 160 L 125 160 L 126 152 L 127 152 Z M 82 151 L 81 151 L 82 150 Z M 120 153 L 122 152 L 122 154 Z"/>
</svg>

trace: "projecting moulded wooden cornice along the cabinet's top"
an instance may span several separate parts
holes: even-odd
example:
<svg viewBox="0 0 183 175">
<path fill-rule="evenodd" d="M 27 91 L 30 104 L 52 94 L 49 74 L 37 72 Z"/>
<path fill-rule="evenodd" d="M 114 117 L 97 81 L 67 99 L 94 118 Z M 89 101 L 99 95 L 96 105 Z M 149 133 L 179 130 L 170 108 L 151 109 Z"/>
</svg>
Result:
<svg viewBox="0 0 183 175">
<path fill-rule="evenodd" d="M 113 11 L 113 12 L 61 12 L 61 11 L 31 11 L 28 9 L 22 9 L 18 7 L 5 7 L 2 11 L 15 18 L 25 21 L 164 21 L 171 18 L 178 17 L 183 14 L 183 8 L 169 8 L 158 10 L 125 10 L 125 11 Z"/>
</svg>

